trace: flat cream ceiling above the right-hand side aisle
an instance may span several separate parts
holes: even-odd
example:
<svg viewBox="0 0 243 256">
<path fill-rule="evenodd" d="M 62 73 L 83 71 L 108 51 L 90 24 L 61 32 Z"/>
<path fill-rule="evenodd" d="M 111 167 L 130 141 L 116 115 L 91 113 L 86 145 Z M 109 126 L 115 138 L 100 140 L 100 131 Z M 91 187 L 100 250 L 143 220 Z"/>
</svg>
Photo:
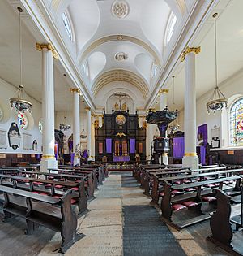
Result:
<svg viewBox="0 0 243 256">
<path fill-rule="evenodd" d="M 234 76 L 243 68 L 243 1 L 223 0 L 211 11 L 203 28 L 195 38 L 194 46 L 201 46 L 196 55 L 197 98 L 215 87 L 215 37 L 212 15 L 219 13 L 217 25 L 218 83 Z M 175 77 L 175 102 L 178 110 L 184 107 L 185 63 L 180 63 L 168 79 L 168 104 L 173 103 L 173 79 Z M 241 86 L 241 85 L 239 85 Z M 158 100 L 157 100 L 158 102 Z M 158 103 L 154 106 L 159 107 Z M 172 105 L 171 105 L 172 106 Z"/>
</svg>

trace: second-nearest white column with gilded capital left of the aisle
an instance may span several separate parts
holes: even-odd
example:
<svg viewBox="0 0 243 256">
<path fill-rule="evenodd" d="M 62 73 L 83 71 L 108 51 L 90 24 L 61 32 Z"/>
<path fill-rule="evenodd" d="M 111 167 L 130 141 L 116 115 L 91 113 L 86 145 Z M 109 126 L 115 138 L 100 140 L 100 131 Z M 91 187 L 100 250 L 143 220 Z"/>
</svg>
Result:
<svg viewBox="0 0 243 256">
<path fill-rule="evenodd" d="M 78 88 L 72 88 L 73 93 L 73 152 L 80 150 L 80 111 L 79 111 L 79 93 Z M 74 165 L 80 164 L 80 155 L 75 154 Z"/>
</svg>

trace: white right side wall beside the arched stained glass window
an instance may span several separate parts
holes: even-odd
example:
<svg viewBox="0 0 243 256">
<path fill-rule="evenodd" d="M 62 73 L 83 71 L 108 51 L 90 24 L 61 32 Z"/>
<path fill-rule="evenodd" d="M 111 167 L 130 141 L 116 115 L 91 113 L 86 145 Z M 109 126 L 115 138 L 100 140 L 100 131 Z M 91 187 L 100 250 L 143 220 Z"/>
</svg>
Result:
<svg viewBox="0 0 243 256">
<path fill-rule="evenodd" d="M 224 82 L 222 82 L 219 87 L 222 93 L 224 93 L 225 98 L 227 99 L 233 98 L 234 95 L 243 95 L 243 70 L 240 70 L 234 76 L 228 78 L 227 80 L 224 80 Z M 222 145 L 226 147 L 228 146 L 228 121 L 225 120 L 225 117 L 221 118 L 221 115 L 224 115 L 224 111 L 220 111 L 211 115 L 207 114 L 206 104 L 210 100 L 212 93 L 213 89 L 197 99 L 197 127 L 201 124 L 207 124 L 209 144 L 211 144 L 211 129 L 214 128 L 215 125 L 217 127 L 220 127 L 220 147 Z M 231 100 L 228 101 L 228 109 L 230 108 L 231 102 Z M 180 124 L 180 129 L 183 131 L 184 110 L 179 112 L 178 123 Z"/>
</svg>

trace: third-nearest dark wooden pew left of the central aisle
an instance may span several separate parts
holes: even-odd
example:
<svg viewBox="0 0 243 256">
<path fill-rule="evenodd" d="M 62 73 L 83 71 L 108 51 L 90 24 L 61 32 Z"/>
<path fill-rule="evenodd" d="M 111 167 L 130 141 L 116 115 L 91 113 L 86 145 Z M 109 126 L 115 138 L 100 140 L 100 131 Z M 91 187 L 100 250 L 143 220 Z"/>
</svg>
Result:
<svg viewBox="0 0 243 256">
<path fill-rule="evenodd" d="M 42 172 L 42 171 L 19 171 L 19 175 L 28 175 L 32 176 L 34 178 L 44 176 L 45 180 L 71 180 L 71 181 L 77 181 L 84 180 L 85 183 L 85 189 L 87 191 L 87 198 L 89 201 L 93 200 L 95 198 L 94 196 L 94 181 L 92 179 L 92 173 L 88 174 L 87 176 L 83 175 L 72 175 L 72 174 L 63 174 L 63 173 L 50 173 L 50 172 Z"/>
</svg>

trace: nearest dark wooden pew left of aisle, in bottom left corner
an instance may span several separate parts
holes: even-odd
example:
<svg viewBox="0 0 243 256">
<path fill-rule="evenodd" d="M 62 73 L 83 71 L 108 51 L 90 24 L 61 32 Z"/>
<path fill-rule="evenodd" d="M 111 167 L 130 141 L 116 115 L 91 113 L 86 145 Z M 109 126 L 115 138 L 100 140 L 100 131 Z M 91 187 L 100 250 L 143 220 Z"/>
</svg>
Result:
<svg viewBox="0 0 243 256">
<path fill-rule="evenodd" d="M 19 216 L 26 220 L 25 233 L 31 235 L 39 225 L 61 232 L 62 245 L 59 252 L 65 253 L 75 241 L 83 237 L 76 232 L 77 217 L 71 208 L 73 190 L 60 198 L 46 197 L 21 189 L 0 185 L 4 195 L 4 219 Z"/>
</svg>

